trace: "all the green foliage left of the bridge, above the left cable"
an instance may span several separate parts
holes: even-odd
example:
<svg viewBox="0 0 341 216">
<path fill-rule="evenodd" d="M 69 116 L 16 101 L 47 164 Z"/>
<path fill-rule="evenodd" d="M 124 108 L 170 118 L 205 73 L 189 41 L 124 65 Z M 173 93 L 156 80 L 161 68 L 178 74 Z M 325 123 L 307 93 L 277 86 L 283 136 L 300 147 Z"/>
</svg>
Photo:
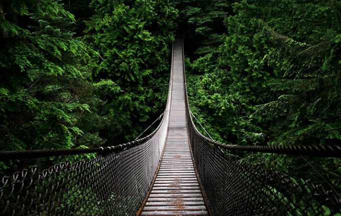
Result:
<svg viewBox="0 0 341 216">
<path fill-rule="evenodd" d="M 1 150 L 127 142 L 164 109 L 177 11 L 90 3 L 0 1 Z"/>
</svg>

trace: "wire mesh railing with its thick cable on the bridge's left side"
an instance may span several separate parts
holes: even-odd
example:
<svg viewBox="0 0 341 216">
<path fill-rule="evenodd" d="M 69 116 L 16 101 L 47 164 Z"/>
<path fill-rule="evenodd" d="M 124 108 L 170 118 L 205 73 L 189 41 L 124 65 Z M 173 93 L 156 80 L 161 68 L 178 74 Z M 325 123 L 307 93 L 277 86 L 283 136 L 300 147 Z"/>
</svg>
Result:
<svg viewBox="0 0 341 216">
<path fill-rule="evenodd" d="M 0 160 L 101 154 L 89 161 L 63 162 L 42 171 L 32 167 L 2 177 L 0 215 L 135 215 L 165 145 L 171 93 L 170 85 L 157 129 L 134 142 L 92 149 L 0 152 Z"/>
</svg>

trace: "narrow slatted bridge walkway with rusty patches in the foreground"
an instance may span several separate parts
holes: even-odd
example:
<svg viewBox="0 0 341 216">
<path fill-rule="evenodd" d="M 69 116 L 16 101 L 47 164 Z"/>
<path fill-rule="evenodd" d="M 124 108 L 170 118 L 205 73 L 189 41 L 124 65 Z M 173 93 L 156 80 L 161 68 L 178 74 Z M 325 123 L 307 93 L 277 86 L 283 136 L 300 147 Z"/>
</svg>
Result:
<svg viewBox="0 0 341 216">
<path fill-rule="evenodd" d="M 173 91 L 166 145 L 141 215 L 209 215 L 188 140 L 181 40 L 174 43 L 173 58 Z"/>
</svg>

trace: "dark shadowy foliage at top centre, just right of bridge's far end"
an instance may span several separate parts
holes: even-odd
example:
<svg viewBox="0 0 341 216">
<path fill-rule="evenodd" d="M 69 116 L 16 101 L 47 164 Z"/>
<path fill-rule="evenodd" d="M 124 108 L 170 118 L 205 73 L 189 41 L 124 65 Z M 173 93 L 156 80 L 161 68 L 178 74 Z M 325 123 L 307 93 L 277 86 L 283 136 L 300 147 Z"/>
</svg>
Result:
<svg viewBox="0 0 341 216">
<path fill-rule="evenodd" d="M 185 36 L 186 53 L 192 60 L 218 52 L 215 48 L 223 42 L 226 30 L 223 20 L 230 6 L 221 0 L 177 2 L 180 30 Z"/>
</svg>

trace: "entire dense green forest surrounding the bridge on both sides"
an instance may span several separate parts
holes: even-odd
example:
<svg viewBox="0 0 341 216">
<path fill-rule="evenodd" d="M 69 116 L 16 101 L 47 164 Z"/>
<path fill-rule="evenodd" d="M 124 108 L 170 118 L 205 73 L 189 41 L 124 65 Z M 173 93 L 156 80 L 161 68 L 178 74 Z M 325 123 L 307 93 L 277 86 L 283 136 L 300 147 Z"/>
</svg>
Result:
<svg viewBox="0 0 341 216">
<path fill-rule="evenodd" d="M 215 140 L 339 145 L 340 22 L 337 0 L 0 0 L 0 150 L 135 139 L 163 112 L 176 34 Z M 338 159 L 240 156 L 341 189 Z"/>
</svg>

